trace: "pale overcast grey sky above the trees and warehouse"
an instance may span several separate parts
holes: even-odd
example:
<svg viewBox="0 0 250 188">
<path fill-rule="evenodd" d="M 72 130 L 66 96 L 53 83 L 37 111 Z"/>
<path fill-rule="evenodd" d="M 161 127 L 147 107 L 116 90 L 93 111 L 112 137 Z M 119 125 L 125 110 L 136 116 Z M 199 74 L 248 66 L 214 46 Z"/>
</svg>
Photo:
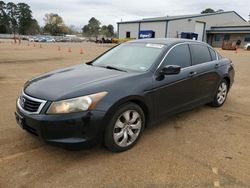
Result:
<svg viewBox="0 0 250 188">
<path fill-rule="evenodd" d="M 9 2 L 3 0 L 5 3 Z M 249 19 L 249 0 L 12 0 L 14 3 L 27 3 L 33 16 L 44 25 L 46 13 L 58 13 L 65 24 L 79 28 L 86 25 L 91 17 L 103 25 L 142 18 L 199 14 L 206 8 L 224 11 L 234 10 L 246 20 Z"/>
</svg>

